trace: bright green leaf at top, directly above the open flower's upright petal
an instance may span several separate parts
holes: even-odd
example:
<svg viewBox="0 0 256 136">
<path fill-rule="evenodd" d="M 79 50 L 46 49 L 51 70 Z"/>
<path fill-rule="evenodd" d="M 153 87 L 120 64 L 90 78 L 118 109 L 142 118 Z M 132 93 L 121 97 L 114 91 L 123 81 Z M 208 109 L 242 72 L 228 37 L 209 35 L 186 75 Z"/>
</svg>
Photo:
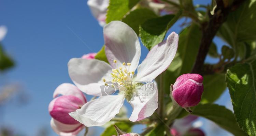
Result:
<svg viewBox="0 0 256 136">
<path fill-rule="evenodd" d="M 121 20 L 140 0 L 110 0 L 106 14 L 106 23 Z"/>
</svg>

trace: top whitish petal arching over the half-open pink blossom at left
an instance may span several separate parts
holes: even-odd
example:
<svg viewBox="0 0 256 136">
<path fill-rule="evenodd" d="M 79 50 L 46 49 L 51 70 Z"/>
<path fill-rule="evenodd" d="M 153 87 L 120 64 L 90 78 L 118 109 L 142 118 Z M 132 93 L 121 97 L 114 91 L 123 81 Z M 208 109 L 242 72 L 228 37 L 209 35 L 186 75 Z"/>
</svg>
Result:
<svg viewBox="0 0 256 136">
<path fill-rule="evenodd" d="M 83 101 L 83 103 L 87 102 L 86 97 L 83 94 L 83 92 L 80 91 L 75 85 L 70 84 L 70 83 L 63 83 L 55 89 L 55 91 L 53 93 L 53 98 L 56 98 L 59 95 L 62 95 L 62 96 L 71 95 L 71 96 L 75 96 L 75 97 L 81 99 Z"/>
</svg>

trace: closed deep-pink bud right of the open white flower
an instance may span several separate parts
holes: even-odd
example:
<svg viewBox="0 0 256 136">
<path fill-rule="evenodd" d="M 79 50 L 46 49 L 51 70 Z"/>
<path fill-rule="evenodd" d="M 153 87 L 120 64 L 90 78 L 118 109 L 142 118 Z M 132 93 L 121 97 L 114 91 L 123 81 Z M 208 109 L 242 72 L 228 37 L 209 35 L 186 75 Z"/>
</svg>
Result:
<svg viewBox="0 0 256 136">
<path fill-rule="evenodd" d="M 197 105 L 203 93 L 203 77 L 199 74 L 183 74 L 173 85 L 173 99 L 183 108 Z"/>
</svg>

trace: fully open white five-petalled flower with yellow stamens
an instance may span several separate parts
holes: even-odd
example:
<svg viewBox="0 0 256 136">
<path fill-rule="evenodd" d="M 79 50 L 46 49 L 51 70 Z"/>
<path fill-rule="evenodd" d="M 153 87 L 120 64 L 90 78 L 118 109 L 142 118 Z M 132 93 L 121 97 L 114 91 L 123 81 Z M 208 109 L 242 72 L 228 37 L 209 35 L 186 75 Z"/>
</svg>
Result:
<svg viewBox="0 0 256 136">
<path fill-rule="evenodd" d="M 86 94 L 100 97 L 69 114 L 85 126 L 100 126 L 119 113 L 126 99 L 133 108 L 130 121 L 151 116 L 158 107 L 158 91 L 152 81 L 172 62 L 178 46 L 178 35 L 172 32 L 167 40 L 154 46 L 139 66 L 141 47 L 132 28 L 124 22 L 112 21 L 104 26 L 103 35 L 110 65 L 104 61 L 82 58 L 72 58 L 68 63 L 74 84 Z M 135 76 L 136 69 L 138 72 Z M 144 89 L 136 89 L 135 81 Z M 117 95 L 102 96 L 102 91 L 105 91 L 101 89 L 102 85 L 113 87 L 109 86 L 109 82 L 118 84 L 119 92 Z M 133 84 L 127 84 L 130 82 Z M 148 85 L 153 85 L 153 89 Z"/>
</svg>

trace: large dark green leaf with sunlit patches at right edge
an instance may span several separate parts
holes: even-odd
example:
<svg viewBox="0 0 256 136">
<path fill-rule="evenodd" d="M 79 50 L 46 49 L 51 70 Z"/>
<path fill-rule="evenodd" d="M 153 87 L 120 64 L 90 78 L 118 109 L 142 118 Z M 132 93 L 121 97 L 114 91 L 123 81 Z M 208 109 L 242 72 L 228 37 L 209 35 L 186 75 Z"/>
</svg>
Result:
<svg viewBox="0 0 256 136">
<path fill-rule="evenodd" d="M 256 136 L 256 61 L 227 70 L 226 83 L 236 120 L 248 135 Z"/>
</svg>

